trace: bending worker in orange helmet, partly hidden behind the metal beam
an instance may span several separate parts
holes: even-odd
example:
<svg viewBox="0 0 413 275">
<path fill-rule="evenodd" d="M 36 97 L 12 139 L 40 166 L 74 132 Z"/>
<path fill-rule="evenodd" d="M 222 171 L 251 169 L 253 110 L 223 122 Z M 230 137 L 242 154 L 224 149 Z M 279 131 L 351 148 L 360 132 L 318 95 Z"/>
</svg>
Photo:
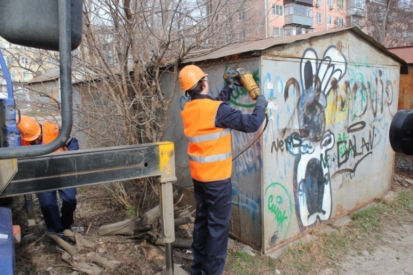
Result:
<svg viewBox="0 0 413 275">
<path fill-rule="evenodd" d="M 29 116 L 21 116 L 17 129 L 21 132 L 21 143 L 23 146 L 41 145 L 52 142 L 59 134 L 56 124 L 46 122 L 38 123 Z M 57 149 L 55 152 L 78 150 L 79 144 L 76 138 L 70 138 L 66 146 Z M 62 199 L 62 215 L 59 215 L 56 191 L 46 191 L 38 193 L 40 209 L 46 223 L 47 230 L 53 233 L 62 233 L 70 229 L 73 224 L 73 213 L 76 210 L 76 188 L 58 190 Z M 62 237 L 62 235 L 59 235 Z"/>
</svg>

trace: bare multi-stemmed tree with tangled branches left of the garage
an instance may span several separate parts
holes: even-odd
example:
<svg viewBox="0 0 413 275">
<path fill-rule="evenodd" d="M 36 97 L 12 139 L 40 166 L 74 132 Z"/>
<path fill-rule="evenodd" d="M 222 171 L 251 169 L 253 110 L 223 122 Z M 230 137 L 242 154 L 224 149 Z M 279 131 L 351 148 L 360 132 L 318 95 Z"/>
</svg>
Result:
<svg viewBox="0 0 413 275">
<path fill-rule="evenodd" d="M 86 0 L 85 39 L 75 63 L 92 80 L 80 85 L 79 92 L 93 103 L 88 112 L 96 115 L 92 121 L 77 116 L 76 130 L 90 133 L 104 127 L 109 137 L 116 137 L 113 145 L 161 141 L 170 126 L 168 109 L 177 81 L 162 87 L 159 78 L 165 71 L 176 74 L 193 50 L 206 54 L 227 45 L 230 41 L 222 35 L 235 32 L 228 22 L 245 1 Z M 107 121 L 109 114 L 117 117 L 115 123 Z"/>
</svg>

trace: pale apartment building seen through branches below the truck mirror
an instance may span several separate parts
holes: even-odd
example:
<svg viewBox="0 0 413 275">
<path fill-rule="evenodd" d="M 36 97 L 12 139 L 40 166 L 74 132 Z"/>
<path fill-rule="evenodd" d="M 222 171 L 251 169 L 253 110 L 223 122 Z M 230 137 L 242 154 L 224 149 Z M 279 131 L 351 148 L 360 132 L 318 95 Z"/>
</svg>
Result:
<svg viewBox="0 0 413 275">
<path fill-rule="evenodd" d="M 2 37 L 0 37 L 0 50 L 10 77 L 14 82 L 22 84 L 56 67 L 59 62 L 58 52 L 15 45 Z"/>
</svg>

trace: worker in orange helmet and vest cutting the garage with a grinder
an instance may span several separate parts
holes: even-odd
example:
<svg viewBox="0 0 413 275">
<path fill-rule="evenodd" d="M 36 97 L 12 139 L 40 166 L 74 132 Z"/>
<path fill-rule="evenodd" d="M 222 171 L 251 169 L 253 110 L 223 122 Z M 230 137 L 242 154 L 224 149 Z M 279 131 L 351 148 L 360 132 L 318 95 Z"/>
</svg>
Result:
<svg viewBox="0 0 413 275">
<path fill-rule="evenodd" d="M 234 110 L 232 72 L 218 97 L 208 95 L 207 74 L 196 65 L 179 73 L 182 91 L 190 97 L 182 111 L 184 133 L 197 201 L 193 231 L 191 274 L 221 274 L 224 270 L 232 201 L 231 131 L 255 132 L 265 119 L 268 102 L 263 95 L 252 114 Z"/>
</svg>

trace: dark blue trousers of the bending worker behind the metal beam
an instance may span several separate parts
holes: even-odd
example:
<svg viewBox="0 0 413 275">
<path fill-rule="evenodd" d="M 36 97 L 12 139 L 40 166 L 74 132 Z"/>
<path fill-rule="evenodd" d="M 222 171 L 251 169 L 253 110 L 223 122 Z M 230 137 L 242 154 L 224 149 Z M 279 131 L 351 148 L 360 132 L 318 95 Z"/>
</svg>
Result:
<svg viewBox="0 0 413 275">
<path fill-rule="evenodd" d="M 38 193 L 40 209 L 49 232 L 61 233 L 70 229 L 73 224 L 73 213 L 76 210 L 76 188 L 58 190 L 62 199 L 62 216 L 59 215 L 56 191 Z"/>
</svg>

